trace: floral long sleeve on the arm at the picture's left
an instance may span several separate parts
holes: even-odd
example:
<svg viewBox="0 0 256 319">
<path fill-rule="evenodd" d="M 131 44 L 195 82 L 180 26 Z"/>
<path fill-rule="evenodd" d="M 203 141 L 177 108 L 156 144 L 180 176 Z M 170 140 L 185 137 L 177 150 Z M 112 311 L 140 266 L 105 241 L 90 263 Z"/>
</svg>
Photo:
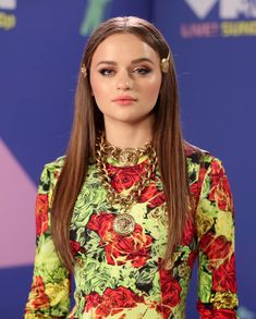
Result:
<svg viewBox="0 0 256 319">
<path fill-rule="evenodd" d="M 38 187 L 36 254 L 25 319 L 66 318 L 70 308 L 70 274 L 57 255 L 50 234 L 50 203 L 57 174 L 56 164 L 47 164 Z"/>
</svg>

